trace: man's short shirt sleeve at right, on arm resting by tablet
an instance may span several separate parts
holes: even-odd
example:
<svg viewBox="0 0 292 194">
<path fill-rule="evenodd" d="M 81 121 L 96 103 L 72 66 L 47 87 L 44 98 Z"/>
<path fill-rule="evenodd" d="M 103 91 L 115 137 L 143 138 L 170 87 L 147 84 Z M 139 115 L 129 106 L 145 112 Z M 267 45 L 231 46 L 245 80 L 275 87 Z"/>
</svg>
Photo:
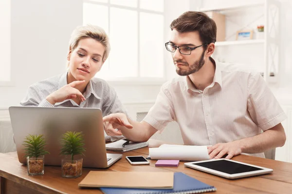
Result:
<svg viewBox="0 0 292 194">
<path fill-rule="evenodd" d="M 287 118 L 274 94 L 258 73 L 250 75 L 247 106 L 253 121 L 263 131 L 273 128 Z"/>
</svg>

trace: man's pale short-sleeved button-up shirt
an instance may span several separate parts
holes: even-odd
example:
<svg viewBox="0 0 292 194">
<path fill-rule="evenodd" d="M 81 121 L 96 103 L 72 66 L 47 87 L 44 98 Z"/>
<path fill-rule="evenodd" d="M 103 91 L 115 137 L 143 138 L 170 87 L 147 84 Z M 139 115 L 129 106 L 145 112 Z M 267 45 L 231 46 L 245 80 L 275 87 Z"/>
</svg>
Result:
<svg viewBox="0 0 292 194">
<path fill-rule="evenodd" d="M 286 118 L 260 74 L 216 62 L 214 80 L 202 93 L 188 76 L 164 83 L 144 121 L 160 131 L 177 121 L 184 144 L 202 146 L 255 136 Z"/>
</svg>

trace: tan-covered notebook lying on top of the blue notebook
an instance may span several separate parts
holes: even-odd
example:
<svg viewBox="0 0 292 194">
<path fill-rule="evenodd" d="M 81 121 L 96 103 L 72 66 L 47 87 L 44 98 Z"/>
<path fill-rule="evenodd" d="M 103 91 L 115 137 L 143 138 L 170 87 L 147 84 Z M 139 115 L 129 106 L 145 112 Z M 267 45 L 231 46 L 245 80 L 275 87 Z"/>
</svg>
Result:
<svg viewBox="0 0 292 194">
<path fill-rule="evenodd" d="M 90 171 L 79 187 L 172 189 L 173 172 Z"/>
</svg>

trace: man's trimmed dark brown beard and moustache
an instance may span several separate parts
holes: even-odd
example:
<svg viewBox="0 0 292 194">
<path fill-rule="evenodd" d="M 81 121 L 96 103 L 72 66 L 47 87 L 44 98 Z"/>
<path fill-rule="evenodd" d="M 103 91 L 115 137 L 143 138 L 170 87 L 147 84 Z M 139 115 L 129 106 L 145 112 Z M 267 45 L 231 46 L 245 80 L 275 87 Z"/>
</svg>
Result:
<svg viewBox="0 0 292 194">
<path fill-rule="evenodd" d="M 203 50 L 200 60 L 195 61 L 192 65 L 188 65 L 188 63 L 183 62 L 181 60 L 173 61 L 174 63 L 179 63 L 179 64 L 181 63 L 181 64 L 187 65 L 189 67 L 186 70 L 181 69 L 181 68 L 177 68 L 176 69 L 177 74 L 179 74 L 180 76 L 187 76 L 187 75 L 190 75 L 192 73 L 199 71 L 205 63 L 205 60 L 204 60 L 205 50 L 206 49 Z"/>
</svg>

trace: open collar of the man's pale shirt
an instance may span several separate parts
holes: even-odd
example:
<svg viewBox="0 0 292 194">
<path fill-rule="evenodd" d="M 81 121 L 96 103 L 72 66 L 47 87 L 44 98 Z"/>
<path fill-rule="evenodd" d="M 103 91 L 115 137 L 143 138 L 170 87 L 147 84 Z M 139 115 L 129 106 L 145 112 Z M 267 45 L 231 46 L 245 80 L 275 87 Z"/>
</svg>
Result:
<svg viewBox="0 0 292 194">
<path fill-rule="evenodd" d="M 221 75 L 222 64 L 219 63 L 216 60 L 214 60 L 214 63 L 215 63 L 214 79 L 213 79 L 213 82 L 211 83 L 211 85 L 208 86 L 208 87 L 213 87 L 215 82 L 217 82 L 220 85 L 220 87 L 222 87 L 222 75 Z M 198 90 L 197 88 L 194 87 L 194 84 L 191 81 L 189 76 L 185 76 L 185 80 L 186 80 L 186 89 L 187 89 L 187 91 L 192 90 L 194 92 L 199 92 L 200 93 L 200 90 Z"/>
</svg>

